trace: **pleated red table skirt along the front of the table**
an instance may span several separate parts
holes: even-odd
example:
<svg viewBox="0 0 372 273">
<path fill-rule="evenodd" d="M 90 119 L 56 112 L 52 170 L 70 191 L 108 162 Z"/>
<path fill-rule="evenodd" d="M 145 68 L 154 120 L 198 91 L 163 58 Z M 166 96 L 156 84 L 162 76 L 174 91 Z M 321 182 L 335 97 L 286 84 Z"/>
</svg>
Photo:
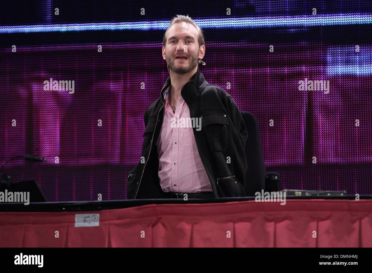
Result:
<svg viewBox="0 0 372 273">
<path fill-rule="evenodd" d="M 99 226 L 75 227 L 76 213 L 99 213 Z M 372 200 L 0 212 L 0 247 L 372 247 Z"/>
</svg>

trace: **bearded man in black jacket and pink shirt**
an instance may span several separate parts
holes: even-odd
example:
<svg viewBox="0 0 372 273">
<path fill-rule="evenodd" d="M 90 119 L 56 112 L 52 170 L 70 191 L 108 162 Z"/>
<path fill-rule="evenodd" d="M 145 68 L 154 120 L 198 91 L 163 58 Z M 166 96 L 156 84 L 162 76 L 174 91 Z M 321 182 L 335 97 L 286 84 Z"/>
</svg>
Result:
<svg viewBox="0 0 372 273">
<path fill-rule="evenodd" d="M 128 175 L 128 199 L 246 196 L 246 126 L 232 97 L 198 69 L 205 65 L 201 28 L 177 15 L 162 52 L 170 76 L 145 111 L 142 160 Z"/>
</svg>

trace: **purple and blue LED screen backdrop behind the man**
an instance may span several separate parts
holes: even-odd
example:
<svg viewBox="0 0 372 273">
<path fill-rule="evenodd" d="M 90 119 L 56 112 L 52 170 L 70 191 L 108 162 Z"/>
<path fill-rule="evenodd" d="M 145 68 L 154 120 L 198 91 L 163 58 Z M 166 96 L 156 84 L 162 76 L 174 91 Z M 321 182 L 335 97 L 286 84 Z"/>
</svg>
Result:
<svg viewBox="0 0 372 273">
<path fill-rule="evenodd" d="M 125 199 L 169 76 L 164 32 L 189 14 L 201 72 L 257 117 L 282 189 L 372 194 L 371 1 L 77 2 L 1 7 L 0 160 L 47 159 L 11 161 L 13 181 L 36 179 L 48 201 Z"/>
</svg>

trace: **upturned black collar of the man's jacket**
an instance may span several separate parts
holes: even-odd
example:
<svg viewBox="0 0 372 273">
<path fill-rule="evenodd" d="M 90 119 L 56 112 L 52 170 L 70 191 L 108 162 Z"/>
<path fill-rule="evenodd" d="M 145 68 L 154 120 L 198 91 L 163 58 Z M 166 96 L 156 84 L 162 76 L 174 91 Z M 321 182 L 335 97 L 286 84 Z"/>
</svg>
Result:
<svg viewBox="0 0 372 273">
<path fill-rule="evenodd" d="M 200 72 L 199 68 L 195 74 L 191 77 L 190 81 L 186 82 L 181 89 L 182 98 L 187 101 L 193 101 L 198 98 L 199 92 L 202 90 L 202 87 L 207 83 L 203 74 Z M 170 76 L 167 78 L 163 88 L 160 92 L 160 98 L 164 101 L 164 93 L 170 86 Z"/>
</svg>

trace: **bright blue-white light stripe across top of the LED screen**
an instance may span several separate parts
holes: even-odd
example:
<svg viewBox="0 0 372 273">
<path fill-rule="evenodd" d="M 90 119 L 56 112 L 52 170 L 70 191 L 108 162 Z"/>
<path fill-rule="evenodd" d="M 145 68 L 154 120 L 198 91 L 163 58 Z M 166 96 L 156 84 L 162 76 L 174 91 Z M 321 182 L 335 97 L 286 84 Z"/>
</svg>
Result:
<svg viewBox="0 0 372 273">
<path fill-rule="evenodd" d="M 246 17 L 223 19 L 195 19 L 201 28 L 254 28 L 254 27 L 311 27 L 331 25 L 371 24 L 372 14 L 324 14 L 308 16 Z M 83 30 L 166 30 L 170 21 L 82 23 L 34 26 L 0 26 L 0 33 L 83 31 Z"/>
</svg>

